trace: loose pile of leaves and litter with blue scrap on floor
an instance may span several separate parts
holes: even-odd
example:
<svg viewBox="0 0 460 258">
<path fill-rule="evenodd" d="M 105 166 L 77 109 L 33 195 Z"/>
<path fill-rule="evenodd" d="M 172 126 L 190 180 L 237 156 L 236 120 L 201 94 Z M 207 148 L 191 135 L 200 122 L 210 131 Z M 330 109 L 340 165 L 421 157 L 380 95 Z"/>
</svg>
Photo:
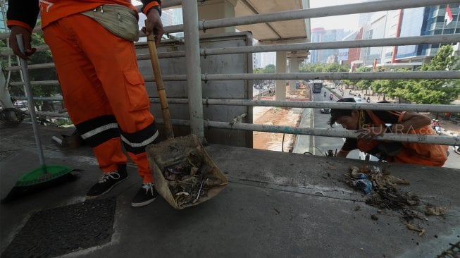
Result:
<svg viewBox="0 0 460 258">
<path fill-rule="evenodd" d="M 402 213 L 402 219 L 406 221 L 406 228 L 417 231 L 423 235 L 425 230 L 414 226 L 410 222 L 414 219 L 428 221 L 425 215 L 445 215 L 447 207 L 435 207 L 432 204 L 421 204 L 417 195 L 404 192 L 397 188 L 398 185 L 409 185 L 409 182 L 390 175 L 387 169 L 380 170 L 377 166 L 350 166 L 349 173 L 345 174 L 345 183 L 352 188 L 363 191 L 370 195 L 366 204 L 379 209 L 398 210 Z"/>
</svg>

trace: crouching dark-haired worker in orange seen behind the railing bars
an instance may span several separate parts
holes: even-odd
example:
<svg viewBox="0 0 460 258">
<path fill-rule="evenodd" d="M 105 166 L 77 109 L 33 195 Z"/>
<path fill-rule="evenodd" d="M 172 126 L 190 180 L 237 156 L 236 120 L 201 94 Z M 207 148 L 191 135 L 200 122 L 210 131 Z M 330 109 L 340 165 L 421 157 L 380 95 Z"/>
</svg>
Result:
<svg viewBox="0 0 460 258">
<path fill-rule="evenodd" d="M 337 102 L 355 102 L 355 100 L 344 98 Z M 347 130 L 361 133 L 356 139 L 345 140 L 342 149 L 337 152 L 339 157 L 347 157 L 350 151 L 359 149 L 361 152 L 377 156 L 380 160 L 395 163 L 442 166 L 447 160 L 445 145 L 373 140 L 385 133 L 436 135 L 430 126 L 430 118 L 421 113 L 332 109 L 328 124 L 332 127 L 335 123 Z"/>
</svg>

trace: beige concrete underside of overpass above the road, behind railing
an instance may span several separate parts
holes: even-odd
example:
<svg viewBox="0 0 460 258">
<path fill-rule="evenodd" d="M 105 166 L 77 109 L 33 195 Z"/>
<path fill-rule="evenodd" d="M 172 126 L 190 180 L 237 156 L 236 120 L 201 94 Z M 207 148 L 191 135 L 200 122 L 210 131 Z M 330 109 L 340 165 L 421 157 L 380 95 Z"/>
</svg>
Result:
<svg viewBox="0 0 460 258">
<path fill-rule="evenodd" d="M 309 8 L 309 0 L 238 0 L 235 16 L 276 13 Z M 255 39 L 263 44 L 309 42 L 309 19 L 285 20 L 237 26 L 237 30 L 251 31 Z"/>
</svg>

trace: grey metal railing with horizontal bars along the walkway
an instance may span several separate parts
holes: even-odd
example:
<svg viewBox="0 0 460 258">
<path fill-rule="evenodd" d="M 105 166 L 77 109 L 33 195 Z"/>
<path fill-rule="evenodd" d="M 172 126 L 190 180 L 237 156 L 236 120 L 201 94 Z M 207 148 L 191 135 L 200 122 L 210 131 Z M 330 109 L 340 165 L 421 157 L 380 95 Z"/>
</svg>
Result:
<svg viewBox="0 0 460 258">
<path fill-rule="evenodd" d="M 166 1 L 167 3 L 168 1 Z M 278 13 L 266 13 L 254 16 L 238 18 L 223 18 L 218 20 L 198 20 L 196 1 L 171 1 L 170 6 L 182 4 L 184 25 L 165 27 L 166 33 L 185 32 L 185 51 L 172 51 L 158 54 L 161 59 L 186 57 L 186 75 L 163 76 L 165 81 L 186 81 L 189 92 L 188 99 L 168 99 L 169 103 L 180 103 L 189 105 L 189 121 L 173 119 L 173 125 L 187 125 L 191 132 L 204 137 L 204 128 L 223 128 L 232 130 L 251 130 L 269 133 L 289 133 L 297 135 L 316 135 L 330 137 L 356 137 L 357 133 L 330 130 L 322 128 L 296 128 L 277 125 L 255 125 L 249 123 L 234 123 L 234 121 L 216 122 L 204 121 L 203 105 L 232 105 L 232 106 L 283 106 L 292 108 L 340 108 L 340 109 L 368 109 L 368 110 L 399 110 L 399 111 L 430 111 L 430 112 L 457 112 L 460 113 L 460 106 L 453 105 L 421 105 L 421 104 L 347 104 L 331 102 L 289 102 L 289 101 L 259 101 L 241 99 L 203 99 L 201 93 L 201 82 L 209 80 L 402 80 L 402 79 L 460 79 L 460 71 L 424 71 L 424 72 L 371 72 L 371 73 L 273 73 L 273 74 L 201 74 L 200 56 L 223 55 L 223 54 L 249 54 L 271 51 L 308 51 L 312 49 L 340 49 L 359 47 L 387 47 L 403 46 L 414 44 L 449 44 L 459 42 L 458 35 L 433 35 L 422 37 L 399 37 L 385 39 L 360 39 L 343 42 L 317 42 L 317 43 L 296 43 L 296 44 L 273 44 L 250 47 L 226 47 L 215 49 L 200 49 L 199 30 L 211 28 L 248 25 L 255 23 L 268 23 L 280 20 L 294 20 L 305 18 L 317 18 L 325 16 L 338 16 L 353 13 L 364 13 L 373 11 L 397 10 L 400 8 L 416 8 L 433 6 L 439 4 L 457 3 L 457 0 L 390 0 L 373 1 L 361 4 L 347 4 L 342 6 L 328 6 L 323 8 L 310 8 L 296 11 L 282 11 Z M 39 31 L 39 29 L 36 31 Z M 144 36 L 140 35 L 141 37 Z M 8 37 L 7 34 L 0 35 L 0 39 Z M 183 43 L 183 42 L 182 42 Z M 147 47 L 145 43 L 137 43 L 138 47 Z M 37 51 L 47 50 L 47 46 L 37 47 Z M 1 51 L 0 55 L 8 56 L 12 51 Z M 137 56 L 138 60 L 149 59 L 147 54 Z M 30 65 L 32 69 L 54 67 L 54 63 L 41 63 Z M 20 67 L 6 67 L 4 70 L 15 71 Z M 154 78 L 145 78 L 147 82 L 153 82 Z M 31 82 L 33 85 L 58 85 L 57 80 Z M 23 82 L 10 82 L 10 85 L 20 86 Z M 251 84 L 250 84 L 251 85 Z M 16 97 L 16 99 L 21 99 Z M 36 98 L 45 100 L 47 98 Z M 56 98 L 51 98 L 56 100 Z M 151 102 L 158 102 L 158 99 L 151 99 Z M 38 112 L 39 114 L 41 112 Z M 49 115 L 48 113 L 45 113 Z M 58 116 L 63 116 L 59 114 Z M 160 120 L 161 122 L 161 120 Z M 381 140 L 397 140 L 405 142 L 437 143 L 442 145 L 460 145 L 460 137 L 435 136 L 435 135 L 397 135 L 387 134 L 380 137 Z"/>
</svg>

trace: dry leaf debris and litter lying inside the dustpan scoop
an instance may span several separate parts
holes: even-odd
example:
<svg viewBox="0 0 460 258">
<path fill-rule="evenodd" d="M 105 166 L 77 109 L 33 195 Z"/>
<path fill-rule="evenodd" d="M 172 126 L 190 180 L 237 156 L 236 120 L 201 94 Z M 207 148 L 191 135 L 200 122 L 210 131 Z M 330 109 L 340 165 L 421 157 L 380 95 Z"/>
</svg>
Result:
<svg viewBox="0 0 460 258">
<path fill-rule="evenodd" d="M 186 161 L 164 168 L 163 176 L 168 180 L 169 190 L 178 207 L 198 202 L 200 198 L 207 197 L 211 188 L 223 183 L 213 176 L 213 168 L 194 152 L 189 152 Z"/>
</svg>

